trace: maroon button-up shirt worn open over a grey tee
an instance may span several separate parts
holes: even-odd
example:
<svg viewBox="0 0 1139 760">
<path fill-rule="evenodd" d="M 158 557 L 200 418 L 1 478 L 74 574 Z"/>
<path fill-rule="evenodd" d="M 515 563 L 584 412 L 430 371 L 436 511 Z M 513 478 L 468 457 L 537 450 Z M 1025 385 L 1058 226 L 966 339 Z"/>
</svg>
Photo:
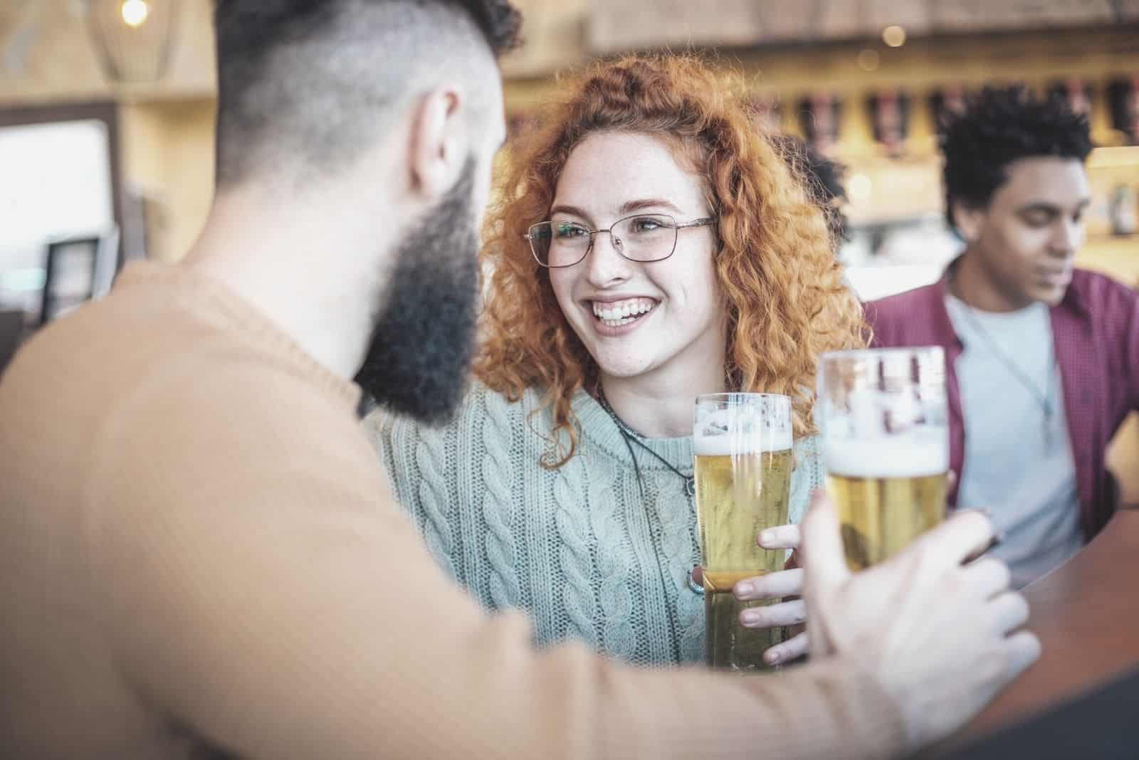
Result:
<svg viewBox="0 0 1139 760">
<path fill-rule="evenodd" d="M 960 474 L 968 431 L 956 363 L 964 346 L 945 311 L 945 294 L 947 278 L 942 276 L 931 286 L 867 304 L 866 319 L 875 346 L 944 349 L 950 466 Z M 1101 274 L 1076 270 L 1064 300 L 1050 314 L 1075 457 L 1081 526 L 1090 539 L 1115 509 L 1105 465 L 1107 444 L 1128 413 L 1139 410 L 1139 292 Z M 956 505 L 956 487 L 949 501 Z"/>
</svg>

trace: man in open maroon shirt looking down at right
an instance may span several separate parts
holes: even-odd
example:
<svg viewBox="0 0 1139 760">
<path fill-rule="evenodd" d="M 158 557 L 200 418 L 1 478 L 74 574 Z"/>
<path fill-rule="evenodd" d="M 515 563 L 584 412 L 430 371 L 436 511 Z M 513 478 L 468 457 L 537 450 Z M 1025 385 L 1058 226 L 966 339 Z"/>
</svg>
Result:
<svg viewBox="0 0 1139 760">
<path fill-rule="evenodd" d="M 1139 408 L 1139 296 L 1074 265 L 1091 203 L 1088 121 L 986 89 L 940 138 L 965 251 L 936 283 L 867 307 L 879 346 L 939 345 L 951 502 L 985 506 L 1015 586 L 1063 563 L 1115 510 L 1105 452 Z"/>
</svg>

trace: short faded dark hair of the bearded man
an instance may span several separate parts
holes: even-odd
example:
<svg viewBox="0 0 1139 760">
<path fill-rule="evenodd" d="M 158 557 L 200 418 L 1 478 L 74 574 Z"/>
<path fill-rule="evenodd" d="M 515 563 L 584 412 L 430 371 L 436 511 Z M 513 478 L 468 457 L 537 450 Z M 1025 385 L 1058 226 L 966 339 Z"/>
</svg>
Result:
<svg viewBox="0 0 1139 760">
<path fill-rule="evenodd" d="M 218 184 L 335 171 L 424 71 L 462 76 L 464 57 L 497 58 L 519 25 L 509 0 L 216 0 Z"/>
</svg>

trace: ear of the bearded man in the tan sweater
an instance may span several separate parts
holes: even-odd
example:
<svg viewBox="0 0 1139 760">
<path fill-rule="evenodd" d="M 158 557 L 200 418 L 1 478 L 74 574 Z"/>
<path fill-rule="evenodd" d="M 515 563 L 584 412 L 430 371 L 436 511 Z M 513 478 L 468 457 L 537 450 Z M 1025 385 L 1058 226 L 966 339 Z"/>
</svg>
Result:
<svg viewBox="0 0 1139 760">
<path fill-rule="evenodd" d="M 469 150 L 466 110 L 462 91 L 444 85 L 424 96 L 412 114 L 408 167 L 411 189 L 424 200 L 441 198 L 462 173 Z"/>
</svg>

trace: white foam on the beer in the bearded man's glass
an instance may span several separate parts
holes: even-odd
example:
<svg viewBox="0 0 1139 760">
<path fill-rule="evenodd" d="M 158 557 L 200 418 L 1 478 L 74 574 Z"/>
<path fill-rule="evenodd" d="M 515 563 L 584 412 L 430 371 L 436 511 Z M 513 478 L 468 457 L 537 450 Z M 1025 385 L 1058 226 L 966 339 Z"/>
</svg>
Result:
<svg viewBox="0 0 1139 760">
<path fill-rule="evenodd" d="M 949 471 L 943 430 L 870 439 L 823 441 L 827 471 L 847 478 L 920 478 Z"/>
</svg>

